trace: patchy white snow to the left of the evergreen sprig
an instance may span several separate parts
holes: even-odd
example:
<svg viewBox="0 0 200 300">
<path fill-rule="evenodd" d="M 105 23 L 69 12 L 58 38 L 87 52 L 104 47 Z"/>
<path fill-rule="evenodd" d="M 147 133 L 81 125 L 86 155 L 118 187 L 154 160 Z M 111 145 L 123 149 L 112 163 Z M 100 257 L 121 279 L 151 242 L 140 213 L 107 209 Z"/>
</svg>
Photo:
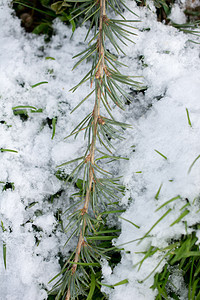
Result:
<svg viewBox="0 0 200 300">
<path fill-rule="evenodd" d="M 58 164 L 74 158 L 83 147 L 82 142 L 63 139 L 77 121 L 77 117 L 69 121 L 70 110 L 82 94 L 74 97 L 68 91 L 81 79 L 81 74 L 71 72 L 72 56 L 84 45 L 79 45 L 82 31 L 77 30 L 76 38 L 70 40 L 71 29 L 59 22 L 55 24 L 58 34 L 49 45 L 43 37 L 25 34 L 7 4 L 0 5 L 0 121 L 6 122 L 0 124 L 0 147 L 18 153 L 0 153 L 1 190 L 6 182 L 15 187 L 1 192 L 0 221 L 6 231 L 1 230 L 0 248 L 4 241 L 7 268 L 0 255 L 0 299 L 43 300 L 51 288 L 49 280 L 60 271 L 59 253 L 66 255 L 69 250 L 63 248 L 67 236 L 55 216 L 68 206 L 71 191 L 54 174 Z M 46 60 L 49 56 L 55 60 Z M 85 66 L 79 68 L 80 73 L 84 70 Z M 48 84 L 31 88 L 42 81 Z M 87 93 L 87 87 L 82 92 Z M 29 118 L 22 121 L 13 114 L 12 107 L 18 105 L 43 112 L 27 109 Z M 52 140 L 47 118 L 56 116 Z M 49 197 L 57 192 L 62 192 L 61 197 L 51 202 Z"/>
</svg>

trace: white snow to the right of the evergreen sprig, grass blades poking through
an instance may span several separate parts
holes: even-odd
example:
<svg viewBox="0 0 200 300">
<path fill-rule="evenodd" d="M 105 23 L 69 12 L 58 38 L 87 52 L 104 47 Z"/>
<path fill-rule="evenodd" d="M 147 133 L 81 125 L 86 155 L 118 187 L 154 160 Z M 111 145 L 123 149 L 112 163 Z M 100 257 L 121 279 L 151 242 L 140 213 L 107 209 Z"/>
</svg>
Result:
<svg viewBox="0 0 200 300">
<path fill-rule="evenodd" d="M 137 10 L 136 13 L 139 14 Z M 141 10 L 140 13 L 144 20 L 144 12 Z M 142 27 L 150 30 L 139 32 L 136 44 L 128 49 L 129 57 L 125 60 L 128 62 L 131 56 L 133 65 L 129 63 L 129 72 L 134 73 L 135 60 L 138 56 L 143 56 L 145 66 L 138 71 L 144 76 L 148 89 L 145 95 L 138 96 L 137 101 L 142 105 L 149 103 L 149 109 L 144 107 L 142 111 L 140 106 L 140 110 L 134 112 L 135 108 L 138 109 L 137 103 L 133 101 L 130 105 L 124 119 L 132 124 L 133 131 L 128 132 L 124 147 L 120 148 L 129 157 L 129 161 L 120 166 L 128 189 L 128 197 L 124 197 L 124 203 L 131 202 L 122 216 L 140 226 L 140 229 L 122 220 L 122 233 L 116 244 L 124 245 L 123 258 L 112 275 L 104 272 L 104 279 L 107 284 L 115 284 L 124 279 L 128 279 L 129 283 L 113 290 L 104 288 L 111 300 L 155 299 L 155 292 L 149 288 L 153 284 L 153 276 L 143 283 L 139 283 L 139 280 L 144 280 L 152 272 L 164 254 L 154 254 L 138 270 L 136 264 L 143 258 L 138 252 L 147 251 L 151 245 L 165 248 L 172 238 L 180 238 L 181 234 L 186 234 L 183 222 L 170 226 L 181 214 L 183 205 L 187 203 L 186 198 L 191 205 L 190 213 L 183 219 L 187 221 L 187 233 L 192 231 L 189 226 L 199 222 L 198 203 L 193 205 L 193 200 L 200 192 L 198 161 L 188 173 L 200 149 L 199 45 L 188 43 L 187 36 L 153 18 L 141 22 L 140 28 Z M 192 127 L 188 124 L 186 108 Z M 134 152 L 131 150 L 133 145 Z M 167 159 L 155 150 L 164 154 Z M 155 196 L 161 185 L 157 200 Z M 166 201 L 179 195 L 180 199 L 156 211 Z M 128 243 L 142 238 L 168 209 L 171 211 L 152 229 L 150 237 L 143 239 L 141 243 Z M 126 253 L 127 251 L 130 253 Z M 165 260 L 156 271 L 161 271 L 164 264 Z M 176 280 L 178 288 L 181 282 Z M 186 299 L 184 288 L 180 289 L 181 299 Z"/>
</svg>

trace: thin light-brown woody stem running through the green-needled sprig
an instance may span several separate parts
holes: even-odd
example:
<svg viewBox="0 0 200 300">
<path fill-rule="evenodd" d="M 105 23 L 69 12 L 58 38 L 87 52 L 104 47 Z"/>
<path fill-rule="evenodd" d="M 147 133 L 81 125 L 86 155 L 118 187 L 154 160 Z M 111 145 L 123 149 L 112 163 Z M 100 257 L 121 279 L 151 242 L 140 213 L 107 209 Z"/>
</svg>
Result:
<svg viewBox="0 0 200 300">
<path fill-rule="evenodd" d="M 96 72 L 97 82 L 97 97 L 95 99 L 95 105 L 93 109 L 93 137 L 90 146 L 90 153 L 88 158 L 90 160 L 90 169 L 89 169 L 89 185 L 86 191 L 85 202 L 82 209 L 82 213 L 85 214 L 88 212 L 89 203 L 90 203 L 90 195 L 92 190 L 92 183 L 94 181 L 94 157 L 95 157 L 95 148 L 96 148 L 96 137 L 97 137 L 97 127 L 98 127 L 98 117 L 100 116 L 100 102 L 101 102 L 101 81 L 104 75 L 104 46 L 103 46 L 103 20 L 106 15 L 106 6 L 105 0 L 100 0 L 100 17 L 99 17 L 99 35 L 98 35 L 98 52 L 99 52 L 99 62 L 97 63 L 98 71 Z M 85 233 L 86 221 L 84 220 L 82 224 L 82 228 L 80 229 L 79 240 L 76 248 L 76 253 L 74 257 L 74 264 L 72 265 L 72 275 L 76 272 L 77 262 L 79 261 L 79 256 L 81 252 L 81 248 L 84 244 L 84 233 Z M 65 300 L 70 300 L 70 286 L 68 287 L 67 295 Z"/>
</svg>

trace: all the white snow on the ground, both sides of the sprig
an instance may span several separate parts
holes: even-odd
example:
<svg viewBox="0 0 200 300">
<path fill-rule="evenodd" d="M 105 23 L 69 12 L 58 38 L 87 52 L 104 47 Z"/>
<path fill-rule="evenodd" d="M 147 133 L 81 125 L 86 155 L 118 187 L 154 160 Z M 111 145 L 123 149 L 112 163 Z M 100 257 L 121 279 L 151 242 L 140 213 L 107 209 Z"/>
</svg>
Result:
<svg viewBox="0 0 200 300">
<path fill-rule="evenodd" d="M 64 141 L 64 137 L 77 124 L 80 112 L 84 116 L 90 109 L 85 105 L 70 115 L 89 88 L 85 85 L 75 94 L 69 92 L 88 68 L 83 63 L 71 71 L 72 56 L 85 47 L 82 41 L 86 29 L 78 28 L 70 39 L 71 29 L 56 21 L 56 35 L 45 44 L 43 37 L 24 33 L 8 3 L 0 3 L 0 148 L 17 152 L 0 152 L 0 221 L 5 228 L 0 231 L 0 299 L 44 300 L 50 288 L 48 281 L 60 270 L 59 253 L 64 255 L 68 250 L 63 250 L 66 237 L 58 218 L 60 209 L 64 211 L 69 204 L 70 191 L 54 175 L 56 166 L 78 156 L 85 146 L 81 140 Z M 137 23 L 135 44 L 124 48 L 127 56 L 121 60 L 129 65 L 130 75 L 143 76 L 147 90 L 135 95 L 125 113 L 116 111 L 116 115 L 133 126 L 119 145 L 120 154 L 129 157 L 121 164 L 120 175 L 127 187 L 122 202 L 128 209 L 123 217 L 140 229 L 123 221 L 116 243 L 141 238 L 168 209 L 171 211 L 151 231 L 150 238 L 124 246 L 130 253 L 124 251 L 113 273 L 105 264 L 103 274 L 108 284 L 129 280 L 126 286 L 105 289 L 109 299 L 153 300 L 155 292 L 149 289 L 153 276 L 143 284 L 138 280 L 152 271 L 161 256 L 151 257 L 138 271 L 133 266 L 142 256 L 135 252 L 145 251 L 150 245 L 165 247 L 171 238 L 185 234 L 184 222 L 170 224 L 179 217 L 186 198 L 191 204 L 190 213 L 183 219 L 188 233 L 189 226 L 200 221 L 196 213 L 200 159 L 189 170 L 200 154 L 200 51 L 198 44 L 188 41 L 198 38 L 157 22 L 151 3 L 151 10 L 138 8 L 132 1 L 128 5 L 142 22 Z M 179 6 L 172 18 L 184 22 Z M 125 16 L 133 18 L 129 12 Z M 39 82 L 48 83 L 31 87 Z M 28 118 L 23 119 L 14 114 L 16 106 L 35 108 L 27 108 Z M 34 112 L 38 109 L 42 112 Z M 50 122 L 55 117 L 52 139 Z M 52 200 L 51 195 L 56 193 L 61 196 Z M 176 196 L 180 199 L 155 212 Z M 197 236 L 200 239 L 199 232 Z M 6 270 L 3 242 L 7 248 Z M 186 299 L 184 291 L 182 288 L 182 299 Z"/>
</svg>

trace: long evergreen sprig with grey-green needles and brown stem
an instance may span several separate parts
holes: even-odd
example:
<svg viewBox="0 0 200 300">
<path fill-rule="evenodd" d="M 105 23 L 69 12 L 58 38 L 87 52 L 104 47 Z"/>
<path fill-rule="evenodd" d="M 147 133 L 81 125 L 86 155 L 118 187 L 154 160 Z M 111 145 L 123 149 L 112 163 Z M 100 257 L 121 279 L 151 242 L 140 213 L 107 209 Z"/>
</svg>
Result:
<svg viewBox="0 0 200 300">
<path fill-rule="evenodd" d="M 74 1 L 63 1 L 63 5 L 67 2 Z M 86 81 L 90 81 L 91 88 L 93 86 L 94 88 L 73 111 L 92 95 L 95 95 L 95 99 L 92 111 L 66 137 L 77 137 L 84 132 L 84 138 L 87 139 L 85 153 L 81 157 L 58 166 L 76 164 L 68 175 L 67 181 L 71 184 L 76 183 L 81 175 L 82 179 L 80 198 L 73 207 L 66 211 L 68 223 L 65 232 L 69 235 L 66 243 L 76 236 L 77 247 L 65 262 L 61 272 L 52 279 L 59 278 L 53 287 L 53 290 L 57 291 L 56 300 L 76 299 L 80 294 L 87 295 L 90 282 L 94 284 L 94 274 L 96 268 L 100 267 L 100 260 L 109 259 L 109 255 L 105 255 L 109 251 L 109 249 L 106 250 L 105 242 L 116 238 L 117 235 L 114 232 L 119 230 L 108 230 L 105 226 L 106 220 L 110 214 L 120 214 L 124 211 L 119 209 L 118 205 L 123 196 L 124 187 L 120 183 L 120 177 L 115 178 L 104 169 L 103 162 L 110 163 L 119 159 L 127 159 L 112 154 L 114 148 L 112 141 L 123 139 L 123 131 L 130 127 L 128 124 L 115 120 L 111 113 L 111 105 L 114 104 L 124 109 L 124 101 L 130 97 L 123 86 L 138 88 L 139 85 L 134 77 L 124 75 L 118 70 L 122 64 L 118 61 L 116 54 L 112 54 L 105 47 L 105 42 L 108 40 L 116 53 L 125 54 L 121 44 L 126 45 L 126 41 L 132 41 L 130 36 L 134 33 L 131 30 L 135 28 L 130 25 L 130 22 L 135 22 L 135 20 L 127 21 L 123 17 L 123 7 L 126 7 L 124 1 L 79 0 L 76 2 L 77 8 L 73 11 L 73 18 L 84 14 L 83 22 L 90 20 L 86 38 L 91 30 L 94 36 L 89 41 L 87 49 L 74 56 L 74 58 L 80 57 L 74 68 L 88 58 L 92 58 L 92 67 L 72 88 L 72 92 Z M 59 1 L 59 5 L 63 7 L 62 1 Z M 109 19 L 107 16 L 109 9 L 121 19 Z M 104 107 L 107 115 L 100 113 L 101 106 Z"/>
</svg>

